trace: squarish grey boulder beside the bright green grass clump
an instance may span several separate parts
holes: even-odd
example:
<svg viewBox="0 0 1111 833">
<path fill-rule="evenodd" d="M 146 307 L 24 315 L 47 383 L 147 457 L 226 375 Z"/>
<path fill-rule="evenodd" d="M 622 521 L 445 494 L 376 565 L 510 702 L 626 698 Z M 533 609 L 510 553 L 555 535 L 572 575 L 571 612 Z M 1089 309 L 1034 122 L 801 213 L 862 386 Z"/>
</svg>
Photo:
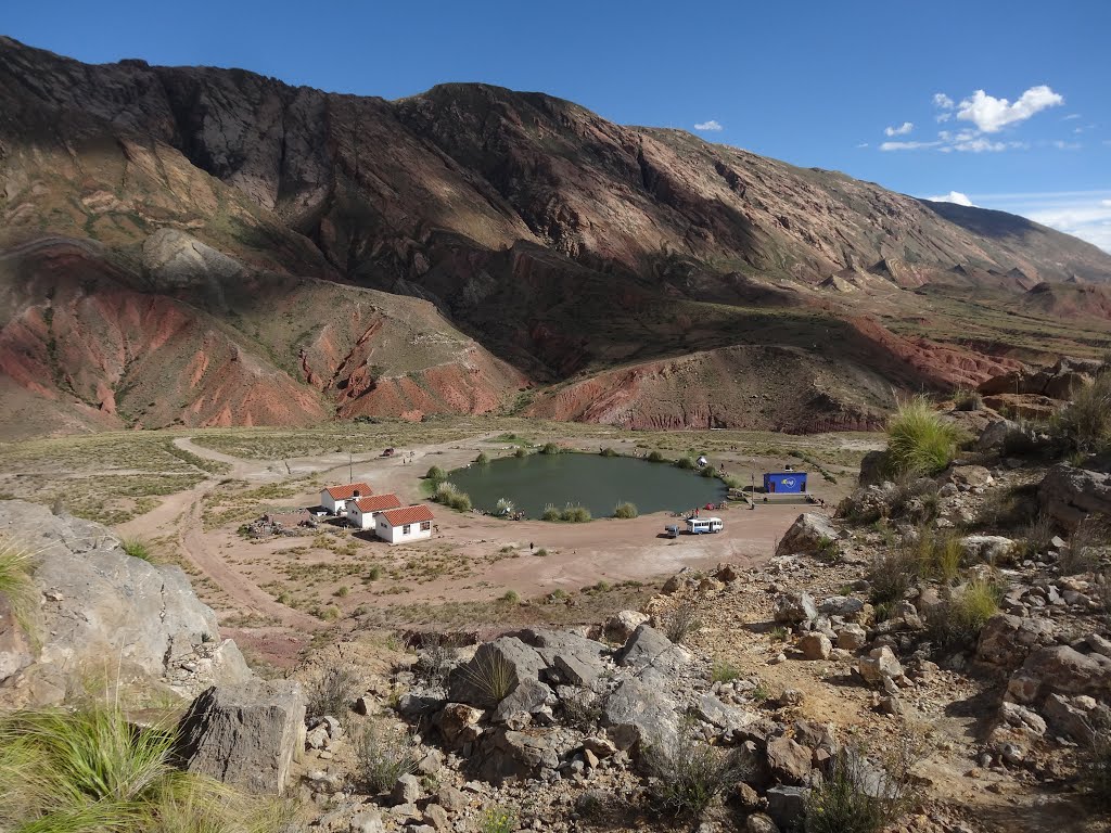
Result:
<svg viewBox="0 0 1111 833">
<path fill-rule="evenodd" d="M 189 772 L 281 795 L 304 734 L 304 694 L 290 681 L 253 680 L 203 692 L 178 725 Z"/>
</svg>

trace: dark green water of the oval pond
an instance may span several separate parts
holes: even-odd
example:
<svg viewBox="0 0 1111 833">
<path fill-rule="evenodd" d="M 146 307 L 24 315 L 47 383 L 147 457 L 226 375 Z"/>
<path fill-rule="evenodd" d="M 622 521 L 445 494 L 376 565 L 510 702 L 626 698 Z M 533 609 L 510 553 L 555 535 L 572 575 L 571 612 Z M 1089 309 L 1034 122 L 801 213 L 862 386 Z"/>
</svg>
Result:
<svg viewBox="0 0 1111 833">
<path fill-rule="evenodd" d="M 471 496 L 474 506 L 493 512 L 498 500 L 513 501 L 528 518 L 540 518 L 549 504 L 585 506 L 594 518 L 609 518 L 618 503 L 630 501 L 641 514 L 683 512 L 725 499 L 717 478 L 628 456 L 601 454 L 530 454 L 501 458 L 486 465 L 457 469 L 448 479 Z"/>
</svg>

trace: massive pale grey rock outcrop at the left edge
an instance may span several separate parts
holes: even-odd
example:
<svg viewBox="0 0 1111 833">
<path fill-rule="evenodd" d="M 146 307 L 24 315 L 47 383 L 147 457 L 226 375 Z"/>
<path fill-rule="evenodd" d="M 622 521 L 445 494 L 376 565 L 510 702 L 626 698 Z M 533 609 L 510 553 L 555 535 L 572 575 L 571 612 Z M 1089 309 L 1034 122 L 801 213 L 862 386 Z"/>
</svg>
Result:
<svg viewBox="0 0 1111 833">
<path fill-rule="evenodd" d="M 41 646 L 27 674 L 50 666 L 80 684 L 107 670 L 122 681 L 172 684 L 187 695 L 251 679 L 238 649 L 220 642 L 216 614 L 180 568 L 132 558 L 99 523 L 24 501 L 0 501 L 0 538 L 37 553 Z M 182 673 L 186 668 L 193 671 Z"/>
</svg>

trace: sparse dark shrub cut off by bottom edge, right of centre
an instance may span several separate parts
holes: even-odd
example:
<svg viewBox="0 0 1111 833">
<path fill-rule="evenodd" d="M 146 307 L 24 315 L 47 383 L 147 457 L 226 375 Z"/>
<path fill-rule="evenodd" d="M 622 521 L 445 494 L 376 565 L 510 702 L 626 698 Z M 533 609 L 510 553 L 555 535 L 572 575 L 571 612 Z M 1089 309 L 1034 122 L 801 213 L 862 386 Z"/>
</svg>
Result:
<svg viewBox="0 0 1111 833">
<path fill-rule="evenodd" d="M 869 766 L 857 746 L 833 760 L 829 774 L 807 799 L 807 833 L 880 833 L 911 806 L 905 766 Z"/>
</svg>

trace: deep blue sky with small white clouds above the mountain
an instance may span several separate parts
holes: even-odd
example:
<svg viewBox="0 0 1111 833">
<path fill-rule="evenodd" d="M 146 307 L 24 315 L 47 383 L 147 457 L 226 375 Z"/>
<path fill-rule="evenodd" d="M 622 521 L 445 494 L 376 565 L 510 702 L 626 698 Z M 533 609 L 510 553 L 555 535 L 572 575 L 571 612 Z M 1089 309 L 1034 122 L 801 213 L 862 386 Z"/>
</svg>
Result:
<svg viewBox="0 0 1111 833">
<path fill-rule="evenodd" d="M 384 98 L 540 90 L 1111 251 L 1108 0 L 11 0 L 0 31 Z"/>
</svg>

